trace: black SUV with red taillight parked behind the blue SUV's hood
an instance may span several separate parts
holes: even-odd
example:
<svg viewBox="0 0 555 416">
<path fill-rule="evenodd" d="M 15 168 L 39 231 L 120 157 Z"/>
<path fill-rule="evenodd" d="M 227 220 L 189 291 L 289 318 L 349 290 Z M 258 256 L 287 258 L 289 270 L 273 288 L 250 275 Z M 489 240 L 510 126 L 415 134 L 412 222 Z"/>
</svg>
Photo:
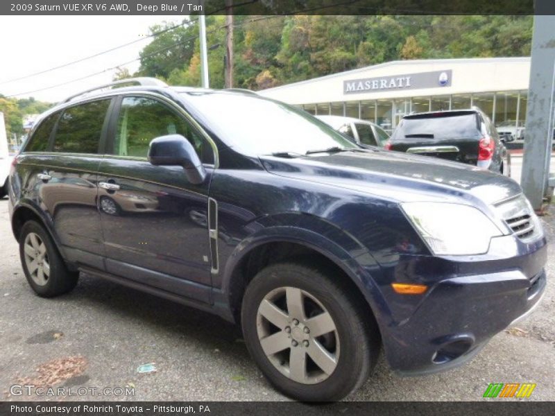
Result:
<svg viewBox="0 0 555 416">
<path fill-rule="evenodd" d="M 386 148 L 511 173 L 511 155 L 493 123 L 477 107 L 404 116 Z"/>
</svg>

